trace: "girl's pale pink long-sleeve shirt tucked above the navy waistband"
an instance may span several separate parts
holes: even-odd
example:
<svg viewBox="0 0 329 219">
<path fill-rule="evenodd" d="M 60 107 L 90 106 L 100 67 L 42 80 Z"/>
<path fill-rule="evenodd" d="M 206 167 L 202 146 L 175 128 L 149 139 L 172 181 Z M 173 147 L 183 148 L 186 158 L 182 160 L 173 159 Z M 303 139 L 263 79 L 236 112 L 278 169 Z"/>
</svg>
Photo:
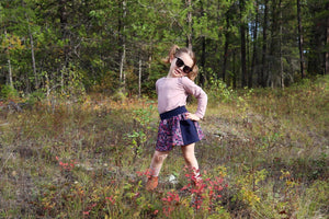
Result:
<svg viewBox="0 0 329 219">
<path fill-rule="evenodd" d="M 195 115 L 203 118 L 207 106 L 207 94 L 188 77 L 161 78 L 156 82 L 159 114 L 186 105 L 188 95 L 197 99 Z"/>
</svg>

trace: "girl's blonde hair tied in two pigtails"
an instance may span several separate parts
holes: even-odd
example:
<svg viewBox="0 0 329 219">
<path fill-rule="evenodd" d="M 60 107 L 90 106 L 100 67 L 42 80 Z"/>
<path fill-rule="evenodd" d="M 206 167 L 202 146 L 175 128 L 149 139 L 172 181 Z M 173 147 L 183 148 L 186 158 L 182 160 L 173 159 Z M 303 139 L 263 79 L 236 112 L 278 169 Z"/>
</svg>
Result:
<svg viewBox="0 0 329 219">
<path fill-rule="evenodd" d="M 179 56 L 181 54 L 188 54 L 193 60 L 193 66 L 191 67 L 192 71 L 188 73 L 188 78 L 194 81 L 198 73 L 198 67 L 196 66 L 195 54 L 191 49 L 186 47 L 180 48 L 178 45 L 173 45 L 169 50 L 168 57 L 163 61 L 166 64 L 170 64 L 170 60 L 172 60 L 173 58 L 175 58 L 175 56 Z"/>
</svg>

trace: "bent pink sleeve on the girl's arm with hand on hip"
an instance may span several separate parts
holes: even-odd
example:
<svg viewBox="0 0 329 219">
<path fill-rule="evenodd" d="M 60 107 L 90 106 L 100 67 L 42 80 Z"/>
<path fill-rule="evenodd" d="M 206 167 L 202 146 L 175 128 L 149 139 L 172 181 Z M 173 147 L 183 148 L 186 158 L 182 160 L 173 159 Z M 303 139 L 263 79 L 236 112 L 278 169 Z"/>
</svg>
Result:
<svg viewBox="0 0 329 219">
<path fill-rule="evenodd" d="M 201 87 L 196 85 L 188 77 L 182 78 L 182 84 L 186 93 L 193 95 L 197 100 L 197 110 L 195 112 L 195 115 L 197 115 L 200 118 L 203 118 L 207 107 L 207 94 L 202 90 Z"/>
</svg>

